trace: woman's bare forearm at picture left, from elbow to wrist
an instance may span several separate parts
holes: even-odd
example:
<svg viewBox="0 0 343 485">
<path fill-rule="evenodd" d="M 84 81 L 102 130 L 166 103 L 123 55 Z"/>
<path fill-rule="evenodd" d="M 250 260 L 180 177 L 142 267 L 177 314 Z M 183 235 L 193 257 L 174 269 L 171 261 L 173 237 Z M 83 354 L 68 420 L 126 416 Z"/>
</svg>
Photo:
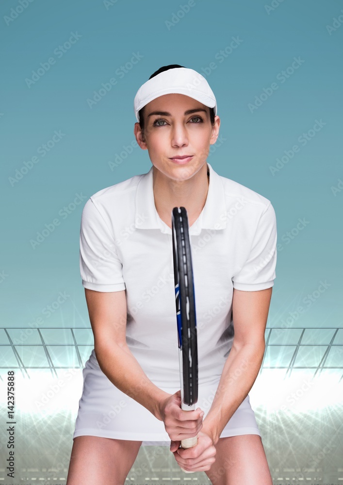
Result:
<svg viewBox="0 0 343 485">
<path fill-rule="evenodd" d="M 150 381 L 129 347 L 102 343 L 95 347 L 95 353 L 101 371 L 114 386 L 162 420 L 160 404 L 169 394 Z"/>
</svg>

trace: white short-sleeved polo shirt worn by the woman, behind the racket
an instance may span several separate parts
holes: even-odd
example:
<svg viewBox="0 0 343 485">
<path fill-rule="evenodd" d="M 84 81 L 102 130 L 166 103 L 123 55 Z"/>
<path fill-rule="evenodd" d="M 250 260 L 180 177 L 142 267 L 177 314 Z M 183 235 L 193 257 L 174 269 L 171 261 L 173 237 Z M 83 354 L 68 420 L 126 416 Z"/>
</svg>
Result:
<svg viewBox="0 0 343 485">
<path fill-rule="evenodd" d="M 207 165 L 206 203 L 189 228 L 199 385 L 218 382 L 228 357 L 233 288 L 272 287 L 277 261 L 271 202 Z M 155 208 L 153 166 L 88 199 L 82 211 L 80 270 L 85 288 L 126 290 L 132 354 L 157 386 L 180 388 L 172 231 Z"/>
</svg>

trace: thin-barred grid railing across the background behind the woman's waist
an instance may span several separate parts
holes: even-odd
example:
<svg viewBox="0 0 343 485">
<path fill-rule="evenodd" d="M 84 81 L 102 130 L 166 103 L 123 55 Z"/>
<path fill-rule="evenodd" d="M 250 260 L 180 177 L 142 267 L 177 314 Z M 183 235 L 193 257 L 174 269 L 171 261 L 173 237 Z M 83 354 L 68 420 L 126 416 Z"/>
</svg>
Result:
<svg viewBox="0 0 343 485">
<path fill-rule="evenodd" d="M 28 378 L 30 369 L 49 369 L 56 377 L 57 369 L 82 369 L 93 348 L 90 327 L 0 327 L 1 339 L 7 341 L 0 343 L 0 370 L 19 369 Z M 285 369 L 286 378 L 294 369 L 312 369 L 315 377 L 323 370 L 343 369 L 343 327 L 267 327 L 265 343 L 260 374 Z M 55 355 L 57 348 L 62 356 Z"/>
</svg>

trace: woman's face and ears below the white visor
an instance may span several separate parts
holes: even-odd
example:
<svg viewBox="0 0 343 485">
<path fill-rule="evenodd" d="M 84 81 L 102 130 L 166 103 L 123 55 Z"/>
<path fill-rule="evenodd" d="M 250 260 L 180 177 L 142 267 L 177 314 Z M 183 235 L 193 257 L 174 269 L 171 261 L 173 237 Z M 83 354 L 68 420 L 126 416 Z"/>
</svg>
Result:
<svg viewBox="0 0 343 485">
<path fill-rule="evenodd" d="M 148 150 L 154 167 L 174 180 L 191 178 L 206 164 L 218 137 L 220 119 L 210 121 L 210 109 L 192 97 L 168 94 L 150 101 L 144 109 L 144 137 L 139 123 L 137 143 Z M 176 157 L 188 155 L 182 162 Z"/>
</svg>

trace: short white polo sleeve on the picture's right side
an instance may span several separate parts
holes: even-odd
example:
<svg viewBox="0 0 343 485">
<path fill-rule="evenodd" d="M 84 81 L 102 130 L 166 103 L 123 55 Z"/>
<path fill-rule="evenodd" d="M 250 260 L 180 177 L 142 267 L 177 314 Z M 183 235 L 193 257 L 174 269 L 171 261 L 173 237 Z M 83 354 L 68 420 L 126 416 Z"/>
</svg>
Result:
<svg viewBox="0 0 343 485">
<path fill-rule="evenodd" d="M 261 214 L 250 253 L 240 272 L 232 277 L 233 288 L 259 291 L 271 288 L 276 278 L 277 223 L 271 203 Z"/>
</svg>

